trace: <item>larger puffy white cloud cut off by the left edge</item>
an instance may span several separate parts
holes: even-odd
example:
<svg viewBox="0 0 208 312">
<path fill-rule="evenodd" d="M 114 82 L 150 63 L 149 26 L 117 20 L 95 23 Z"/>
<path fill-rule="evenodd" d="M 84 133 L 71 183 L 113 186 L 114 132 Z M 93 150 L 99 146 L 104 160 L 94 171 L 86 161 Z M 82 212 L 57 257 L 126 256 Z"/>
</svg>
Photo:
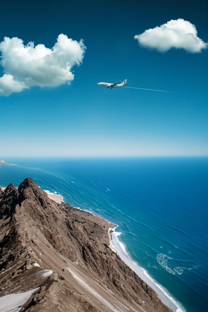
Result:
<svg viewBox="0 0 208 312">
<path fill-rule="evenodd" d="M 27 45 L 17 37 L 0 42 L 3 76 L 0 77 L 0 95 L 21 92 L 32 86 L 56 87 L 69 84 L 74 79 L 71 69 L 82 63 L 86 46 L 59 34 L 57 42 L 49 49 L 44 44 Z"/>
</svg>

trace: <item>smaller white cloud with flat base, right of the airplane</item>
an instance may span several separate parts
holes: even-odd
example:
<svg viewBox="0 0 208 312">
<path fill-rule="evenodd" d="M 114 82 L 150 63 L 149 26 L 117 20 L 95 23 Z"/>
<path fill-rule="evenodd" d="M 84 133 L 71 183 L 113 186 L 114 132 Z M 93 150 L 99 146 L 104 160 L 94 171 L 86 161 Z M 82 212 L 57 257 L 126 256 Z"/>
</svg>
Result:
<svg viewBox="0 0 208 312">
<path fill-rule="evenodd" d="M 194 24 L 183 18 L 171 19 L 166 24 L 145 30 L 134 36 L 141 46 L 166 52 L 171 48 L 185 49 L 187 52 L 199 53 L 208 47 L 197 35 Z"/>
</svg>

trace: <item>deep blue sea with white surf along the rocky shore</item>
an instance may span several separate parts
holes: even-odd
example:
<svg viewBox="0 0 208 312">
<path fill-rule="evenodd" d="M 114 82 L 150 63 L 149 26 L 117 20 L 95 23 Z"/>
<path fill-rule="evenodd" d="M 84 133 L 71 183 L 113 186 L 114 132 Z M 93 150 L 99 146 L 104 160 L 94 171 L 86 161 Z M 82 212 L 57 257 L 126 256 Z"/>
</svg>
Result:
<svg viewBox="0 0 208 312">
<path fill-rule="evenodd" d="M 112 222 L 115 250 L 174 312 L 208 311 L 208 157 L 3 160 L 1 187 L 31 177 Z"/>
</svg>

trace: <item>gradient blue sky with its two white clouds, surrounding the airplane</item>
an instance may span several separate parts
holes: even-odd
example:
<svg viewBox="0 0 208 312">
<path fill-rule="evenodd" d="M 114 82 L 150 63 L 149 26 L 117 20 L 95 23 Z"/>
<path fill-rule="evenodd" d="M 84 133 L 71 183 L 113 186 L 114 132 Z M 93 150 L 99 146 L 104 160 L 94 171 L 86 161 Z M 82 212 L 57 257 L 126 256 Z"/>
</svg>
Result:
<svg viewBox="0 0 208 312">
<path fill-rule="evenodd" d="M 1 159 L 208 156 L 206 0 L 4 2 Z"/>
</svg>

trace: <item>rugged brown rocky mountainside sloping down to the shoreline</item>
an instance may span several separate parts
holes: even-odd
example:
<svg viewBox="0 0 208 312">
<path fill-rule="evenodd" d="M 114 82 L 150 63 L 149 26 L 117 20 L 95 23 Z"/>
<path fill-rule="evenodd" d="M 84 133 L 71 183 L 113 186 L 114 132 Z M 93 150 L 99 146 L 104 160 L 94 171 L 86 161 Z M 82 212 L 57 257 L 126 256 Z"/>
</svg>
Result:
<svg viewBox="0 0 208 312">
<path fill-rule="evenodd" d="M 168 312 L 109 247 L 113 225 L 48 198 L 31 178 L 0 191 L 0 296 L 35 289 L 19 311 Z"/>
</svg>

